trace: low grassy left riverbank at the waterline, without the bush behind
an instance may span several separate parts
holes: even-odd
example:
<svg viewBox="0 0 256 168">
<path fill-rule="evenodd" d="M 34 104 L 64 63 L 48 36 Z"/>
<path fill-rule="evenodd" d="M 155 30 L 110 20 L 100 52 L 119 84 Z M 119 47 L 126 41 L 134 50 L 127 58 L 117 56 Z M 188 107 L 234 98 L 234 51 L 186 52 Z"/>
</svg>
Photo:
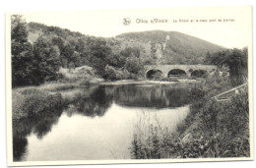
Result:
<svg viewBox="0 0 256 168">
<path fill-rule="evenodd" d="M 28 118 L 37 113 L 64 106 L 67 101 L 72 101 L 72 96 L 63 96 L 62 91 L 85 86 L 88 84 L 55 82 L 13 88 L 13 119 Z"/>
</svg>

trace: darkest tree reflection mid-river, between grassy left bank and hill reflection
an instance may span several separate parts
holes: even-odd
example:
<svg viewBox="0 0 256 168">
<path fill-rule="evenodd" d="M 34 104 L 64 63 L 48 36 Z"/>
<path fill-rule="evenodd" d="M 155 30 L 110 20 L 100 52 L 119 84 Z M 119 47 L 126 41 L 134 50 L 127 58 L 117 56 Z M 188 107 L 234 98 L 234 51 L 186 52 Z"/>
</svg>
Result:
<svg viewBox="0 0 256 168">
<path fill-rule="evenodd" d="M 103 116 L 111 103 L 112 95 L 105 93 L 105 86 L 98 86 L 90 96 L 79 94 L 69 112 L 73 110 L 72 112 L 90 117 Z"/>
</svg>

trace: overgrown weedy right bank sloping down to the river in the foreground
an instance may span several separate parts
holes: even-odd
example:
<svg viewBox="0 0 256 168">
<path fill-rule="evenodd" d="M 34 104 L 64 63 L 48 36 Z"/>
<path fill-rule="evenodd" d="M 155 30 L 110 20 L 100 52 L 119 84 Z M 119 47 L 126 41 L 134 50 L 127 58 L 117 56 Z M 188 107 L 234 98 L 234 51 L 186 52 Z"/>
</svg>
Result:
<svg viewBox="0 0 256 168">
<path fill-rule="evenodd" d="M 136 127 L 131 145 L 135 159 L 248 157 L 248 90 L 229 101 L 213 95 L 230 87 L 226 81 L 205 84 L 191 91 L 190 113 L 175 130 L 159 123 Z M 149 121 L 151 122 L 151 121 Z M 140 130 L 148 130 L 147 134 Z"/>
</svg>

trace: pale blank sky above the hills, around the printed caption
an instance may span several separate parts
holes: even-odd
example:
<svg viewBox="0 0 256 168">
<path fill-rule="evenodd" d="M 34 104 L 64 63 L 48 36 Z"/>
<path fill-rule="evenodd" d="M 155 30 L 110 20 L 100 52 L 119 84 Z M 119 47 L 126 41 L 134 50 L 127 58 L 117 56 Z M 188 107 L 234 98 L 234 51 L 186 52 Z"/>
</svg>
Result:
<svg viewBox="0 0 256 168">
<path fill-rule="evenodd" d="M 190 34 L 227 48 L 242 48 L 248 46 L 251 41 L 250 7 L 176 7 L 158 10 L 43 12 L 23 15 L 28 23 L 36 22 L 103 37 L 129 31 L 161 29 Z M 124 18 L 131 20 L 129 26 L 123 25 Z M 153 19 L 165 20 L 167 23 L 151 24 Z M 222 22 L 218 22 L 219 19 Z M 148 24 L 138 23 L 142 20 L 148 21 Z M 173 23 L 173 20 L 177 23 Z M 188 20 L 189 23 L 179 20 Z M 196 20 L 199 22 L 197 23 Z M 207 23 L 200 23 L 200 20 L 207 20 Z M 209 20 L 216 22 L 210 23 Z M 233 21 L 224 22 L 224 20 Z"/>
</svg>

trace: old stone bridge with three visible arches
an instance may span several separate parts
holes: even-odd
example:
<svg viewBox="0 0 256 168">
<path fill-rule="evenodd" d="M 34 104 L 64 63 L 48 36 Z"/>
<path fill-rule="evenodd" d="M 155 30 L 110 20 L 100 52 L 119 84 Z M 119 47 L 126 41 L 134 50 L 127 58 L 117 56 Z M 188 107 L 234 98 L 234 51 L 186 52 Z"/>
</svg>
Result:
<svg viewBox="0 0 256 168">
<path fill-rule="evenodd" d="M 206 73 L 216 71 L 214 65 L 146 65 L 144 66 L 145 76 L 152 78 L 160 73 L 162 77 L 201 77 Z"/>
</svg>

